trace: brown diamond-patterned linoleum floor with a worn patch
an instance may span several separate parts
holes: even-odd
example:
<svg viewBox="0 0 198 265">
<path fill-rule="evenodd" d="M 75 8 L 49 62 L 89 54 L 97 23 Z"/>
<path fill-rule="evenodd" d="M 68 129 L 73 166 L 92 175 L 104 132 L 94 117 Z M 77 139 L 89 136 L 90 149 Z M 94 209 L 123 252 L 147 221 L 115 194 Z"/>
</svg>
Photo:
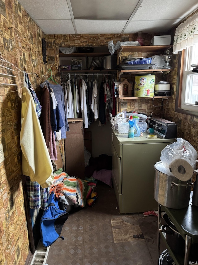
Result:
<svg viewBox="0 0 198 265">
<path fill-rule="evenodd" d="M 114 189 L 97 183 L 91 208 L 70 212 L 49 248 L 48 265 L 155 265 L 157 217 L 119 214 Z M 113 233 L 114 232 L 114 233 Z"/>
</svg>

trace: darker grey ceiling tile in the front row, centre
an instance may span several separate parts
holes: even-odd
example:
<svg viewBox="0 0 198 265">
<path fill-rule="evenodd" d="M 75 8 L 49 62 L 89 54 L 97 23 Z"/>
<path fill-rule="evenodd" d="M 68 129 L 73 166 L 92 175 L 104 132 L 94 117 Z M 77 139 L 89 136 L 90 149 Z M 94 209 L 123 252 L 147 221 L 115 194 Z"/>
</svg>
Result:
<svg viewBox="0 0 198 265">
<path fill-rule="evenodd" d="M 75 19 L 128 20 L 139 0 L 70 0 Z"/>
</svg>

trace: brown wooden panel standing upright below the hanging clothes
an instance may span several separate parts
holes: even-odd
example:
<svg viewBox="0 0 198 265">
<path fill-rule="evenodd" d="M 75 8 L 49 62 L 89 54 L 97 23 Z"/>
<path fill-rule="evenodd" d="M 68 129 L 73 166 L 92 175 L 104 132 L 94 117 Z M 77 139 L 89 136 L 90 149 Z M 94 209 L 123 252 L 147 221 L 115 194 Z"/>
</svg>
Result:
<svg viewBox="0 0 198 265">
<path fill-rule="evenodd" d="M 69 132 L 64 139 L 65 168 L 69 176 L 85 179 L 83 119 L 68 119 Z"/>
</svg>

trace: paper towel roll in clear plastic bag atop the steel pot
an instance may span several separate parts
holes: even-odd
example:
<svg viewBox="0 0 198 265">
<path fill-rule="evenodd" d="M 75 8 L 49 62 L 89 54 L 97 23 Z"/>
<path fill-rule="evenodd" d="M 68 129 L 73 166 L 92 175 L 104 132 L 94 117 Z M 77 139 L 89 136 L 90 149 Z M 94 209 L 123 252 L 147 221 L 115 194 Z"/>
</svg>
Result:
<svg viewBox="0 0 198 265">
<path fill-rule="evenodd" d="M 182 158 L 174 159 L 169 165 L 170 172 L 179 180 L 187 181 L 192 178 L 194 168 Z"/>
</svg>

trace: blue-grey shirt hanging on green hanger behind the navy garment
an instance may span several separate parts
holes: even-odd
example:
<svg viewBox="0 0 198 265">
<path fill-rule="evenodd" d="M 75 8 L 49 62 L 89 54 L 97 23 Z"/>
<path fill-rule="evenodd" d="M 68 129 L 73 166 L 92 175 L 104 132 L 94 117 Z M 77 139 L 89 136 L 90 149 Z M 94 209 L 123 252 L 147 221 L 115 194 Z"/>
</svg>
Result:
<svg viewBox="0 0 198 265">
<path fill-rule="evenodd" d="M 56 101 L 58 103 L 58 107 L 62 116 L 62 120 L 65 123 L 65 126 L 63 126 L 61 128 L 61 138 L 65 139 L 66 137 L 66 131 L 69 131 L 69 124 L 67 121 L 67 113 L 66 113 L 66 109 L 65 109 L 65 102 L 64 102 L 64 93 L 63 93 L 63 89 L 61 85 L 53 85 L 51 83 L 49 83 L 47 81 L 47 83 L 49 84 L 49 87 L 53 89 L 54 91 L 54 95 L 56 98 Z"/>
</svg>

